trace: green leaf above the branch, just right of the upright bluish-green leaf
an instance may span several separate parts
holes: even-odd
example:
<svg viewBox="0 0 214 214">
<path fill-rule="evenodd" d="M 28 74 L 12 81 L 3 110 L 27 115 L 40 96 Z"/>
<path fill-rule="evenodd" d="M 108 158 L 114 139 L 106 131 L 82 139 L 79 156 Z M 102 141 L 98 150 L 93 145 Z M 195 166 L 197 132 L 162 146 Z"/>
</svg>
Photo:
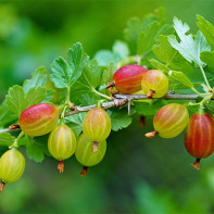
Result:
<svg viewBox="0 0 214 214">
<path fill-rule="evenodd" d="M 101 75 L 102 72 L 97 60 L 90 61 L 85 66 L 81 76 L 71 88 L 71 101 L 75 104 L 88 104 L 84 102 L 85 100 L 81 100 L 81 96 L 84 95 L 89 95 L 91 101 L 98 100 L 99 96 L 96 93 L 96 88 L 100 86 Z"/>
</svg>

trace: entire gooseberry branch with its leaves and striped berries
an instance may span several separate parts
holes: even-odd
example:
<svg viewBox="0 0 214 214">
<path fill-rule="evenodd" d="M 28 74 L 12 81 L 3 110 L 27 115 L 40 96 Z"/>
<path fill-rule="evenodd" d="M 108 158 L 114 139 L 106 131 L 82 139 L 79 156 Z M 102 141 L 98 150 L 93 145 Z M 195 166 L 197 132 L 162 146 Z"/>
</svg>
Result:
<svg viewBox="0 0 214 214">
<path fill-rule="evenodd" d="M 75 155 L 85 176 L 104 158 L 111 130 L 127 128 L 134 114 L 141 126 L 154 116 L 154 130 L 142 138 L 175 138 L 186 129 L 184 147 L 199 169 L 214 151 L 214 26 L 200 15 L 197 26 L 192 35 L 158 9 L 131 18 L 125 41 L 112 50 L 89 58 L 74 43 L 66 59 L 9 88 L 0 106 L 0 191 L 23 175 L 25 156 L 38 163 L 52 156 L 63 173 Z"/>
</svg>

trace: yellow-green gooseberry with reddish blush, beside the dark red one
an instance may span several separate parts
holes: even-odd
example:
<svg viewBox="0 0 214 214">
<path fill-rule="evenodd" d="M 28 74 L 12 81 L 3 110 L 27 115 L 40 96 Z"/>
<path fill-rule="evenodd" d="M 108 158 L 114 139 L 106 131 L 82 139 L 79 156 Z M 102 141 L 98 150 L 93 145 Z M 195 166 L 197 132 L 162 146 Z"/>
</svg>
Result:
<svg viewBox="0 0 214 214">
<path fill-rule="evenodd" d="M 153 119 L 154 129 L 162 138 L 178 136 L 189 122 L 189 113 L 185 105 L 171 103 L 161 108 Z"/>
</svg>

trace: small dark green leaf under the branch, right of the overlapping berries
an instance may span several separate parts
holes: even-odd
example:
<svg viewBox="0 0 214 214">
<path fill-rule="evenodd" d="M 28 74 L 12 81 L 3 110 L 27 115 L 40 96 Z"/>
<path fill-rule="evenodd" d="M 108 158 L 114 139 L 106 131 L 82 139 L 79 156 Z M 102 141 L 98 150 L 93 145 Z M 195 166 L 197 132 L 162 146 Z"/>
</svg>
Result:
<svg viewBox="0 0 214 214">
<path fill-rule="evenodd" d="M 112 130 L 115 131 L 128 127 L 133 122 L 131 116 L 128 115 L 127 109 L 108 110 L 108 114 L 112 122 Z"/>
</svg>

